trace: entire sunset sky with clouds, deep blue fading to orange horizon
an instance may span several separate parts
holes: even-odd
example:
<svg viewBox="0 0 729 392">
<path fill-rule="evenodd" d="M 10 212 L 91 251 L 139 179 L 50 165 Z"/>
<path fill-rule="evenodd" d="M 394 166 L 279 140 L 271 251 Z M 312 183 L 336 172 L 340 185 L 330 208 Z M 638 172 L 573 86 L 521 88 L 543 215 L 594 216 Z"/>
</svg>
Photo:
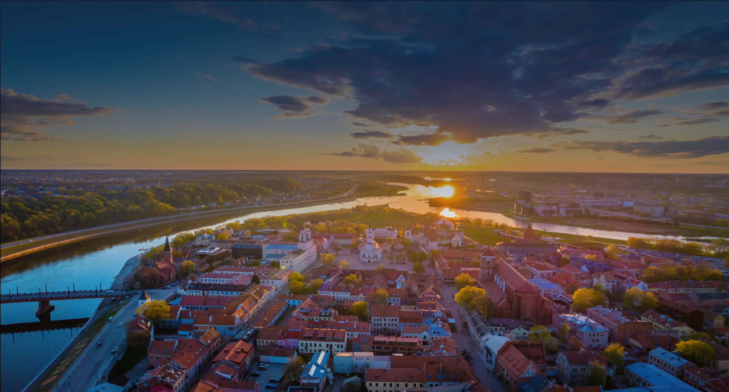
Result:
<svg viewBox="0 0 729 392">
<path fill-rule="evenodd" d="M 3 169 L 729 172 L 729 2 L 0 2 Z"/>
</svg>

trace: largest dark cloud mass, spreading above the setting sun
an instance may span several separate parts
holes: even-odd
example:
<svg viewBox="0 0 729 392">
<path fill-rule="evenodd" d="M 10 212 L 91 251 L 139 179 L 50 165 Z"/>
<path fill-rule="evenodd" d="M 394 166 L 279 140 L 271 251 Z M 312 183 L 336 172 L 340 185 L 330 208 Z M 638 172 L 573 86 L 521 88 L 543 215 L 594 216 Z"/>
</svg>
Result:
<svg viewBox="0 0 729 392">
<path fill-rule="evenodd" d="M 621 100 L 714 88 L 729 80 L 725 25 L 635 46 L 658 2 L 321 3 L 360 36 L 333 39 L 273 63 L 247 63 L 260 79 L 343 95 L 361 124 L 434 125 L 400 144 L 472 143 L 553 133 Z M 548 31 L 549 34 L 545 34 Z M 671 46 L 670 44 L 674 44 Z M 703 58 L 702 48 L 714 45 Z M 677 55 L 680 59 L 672 60 Z M 600 98 L 596 98 L 599 96 Z M 655 110 L 655 109 L 654 109 Z M 606 118 L 631 124 L 652 111 Z M 362 121 L 362 120 L 367 120 Z"/>
</svg>

